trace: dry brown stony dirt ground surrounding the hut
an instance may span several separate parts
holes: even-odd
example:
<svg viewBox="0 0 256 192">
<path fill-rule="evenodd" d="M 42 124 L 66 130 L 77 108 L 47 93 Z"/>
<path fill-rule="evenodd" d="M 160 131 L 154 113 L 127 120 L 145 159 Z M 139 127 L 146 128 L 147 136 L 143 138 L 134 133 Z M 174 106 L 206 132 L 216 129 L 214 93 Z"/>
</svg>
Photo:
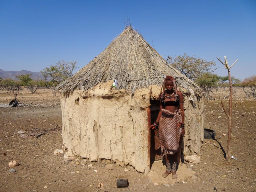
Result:
<svg viewBox="0 0 256 192">
<path fill-rule="evenodd" d="M 12 99 L 13 95 L 0 92 L 0 104 Z M 96 162 L 80 166 L 80 157 L 64 164 L 63 155 L 53 154 L 62 147 L 59 129 L 38 138 L 26 136 L 26 132 L 17 133 L 26 129 L 27 133 L 36 134 L 36 130 L 61 126 L 59 97 L 49 90 L 36 94 L 23 91 L 23 98 L 18 100 L 28 106 L 0 108 L 0 191 L 97 191 L 99 182 L 104 184 L 105 191 L 215 191 L 215 187 L 217 191 L 256 191 L 255 100 L 233 101 L 231 148 L 238 160 L 231 159 L 230 163 L 225 162 L 227 136 L 222 135 L 228 134 L 227 117 L 219 99 L 205 100 L 205 128 L 216 131 L 215 140 L 205 140 L 198 154 L 200 164 L 184 164 L 195 175 L 178 179 L 174 185 L 151 182 L 149 176 L 129 166 L 116 166 L 114 170 Z M 227 107 L 228 100 L 224 103 Z M 15 173 L 9 173 L 8 163 L 13 159 L 20 165 L 15 167 Z M 116 188 L 117 178 L 128 178 L 129 187 Z"/>
</svg>

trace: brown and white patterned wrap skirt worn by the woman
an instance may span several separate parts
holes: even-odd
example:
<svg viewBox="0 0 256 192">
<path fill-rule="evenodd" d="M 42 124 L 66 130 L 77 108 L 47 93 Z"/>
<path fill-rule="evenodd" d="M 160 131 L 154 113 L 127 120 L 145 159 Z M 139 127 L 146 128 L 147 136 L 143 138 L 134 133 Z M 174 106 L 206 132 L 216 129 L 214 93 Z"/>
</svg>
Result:
<svg viewBox="0 0 256 192">
<path fill-rule="evenodd" d="M 159 120 L 159 145 L 162 155 L 173 155 L 178 151 L 181 136 L 181 110 L 174 113 L 166 109 L 162 110 Z"/>
</svg>

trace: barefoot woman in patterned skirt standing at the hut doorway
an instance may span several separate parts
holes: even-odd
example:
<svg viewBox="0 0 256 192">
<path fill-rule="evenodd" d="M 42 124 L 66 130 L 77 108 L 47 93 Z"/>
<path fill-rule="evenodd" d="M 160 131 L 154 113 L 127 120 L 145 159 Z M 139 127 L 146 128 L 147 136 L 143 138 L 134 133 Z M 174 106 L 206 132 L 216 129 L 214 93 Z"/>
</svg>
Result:
<svg viewBox="0 0 256 192">
<path fill-rule="evenodd" d="M 172 173 L 172 178 L 177 178 L 179 141 L 180 136 L 185 134 L 185 118 L 183 95 L 177 91 L 176 82 L 172 76 L 164 79 L 159 100 L 161 110 L 151 129 L 159 126 L 159 145 L 166 162 L 166 172 L 162 176 L 167 177 Z"/>
</svg>

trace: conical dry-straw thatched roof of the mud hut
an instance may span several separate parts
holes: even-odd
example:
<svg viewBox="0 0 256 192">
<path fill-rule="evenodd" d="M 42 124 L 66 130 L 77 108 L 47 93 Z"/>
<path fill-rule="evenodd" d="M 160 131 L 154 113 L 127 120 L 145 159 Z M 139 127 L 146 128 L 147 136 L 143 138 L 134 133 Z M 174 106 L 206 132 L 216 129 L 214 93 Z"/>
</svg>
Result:
<svg viewBox="0 0 256 192">
<path fill-rule="evenodd" d="M 132 27 L 126 27 L 97 57 L 54 88 L 60 93 L 72 92 L 84 86 L 85 90 L 108 80 L 118 80 L 117 89 L 135 90 L 152 84 L 162 86 L 164 76 L 173 76 L 178 87 L 198 86 L 173 67 L 153 49 Z"/>
</svg>

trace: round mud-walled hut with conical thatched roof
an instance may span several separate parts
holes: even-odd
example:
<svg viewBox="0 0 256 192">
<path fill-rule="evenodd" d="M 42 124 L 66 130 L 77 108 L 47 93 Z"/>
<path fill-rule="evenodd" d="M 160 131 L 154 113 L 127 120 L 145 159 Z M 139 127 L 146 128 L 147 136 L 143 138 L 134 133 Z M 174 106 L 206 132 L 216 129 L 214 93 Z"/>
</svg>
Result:
<svg viewBox="0 0 256 192">
<path fill-rule="evenodd" d="M 90 161 L 130 164 L 147 173 L 150 160 L 159 158 L 157 138 L 148 125 L 157 116 L 165 75 L 176 79 L 187 98 L 184 154 L 198 153 L 204 122 L 200 88 L 166 65 L 132 27 L 126 27 L 88 65 L 55 87 L 54 91 L 62 93 L 65 147 Z M 115 79 L 118 85 L 113 89 Z"/>
</svg>

